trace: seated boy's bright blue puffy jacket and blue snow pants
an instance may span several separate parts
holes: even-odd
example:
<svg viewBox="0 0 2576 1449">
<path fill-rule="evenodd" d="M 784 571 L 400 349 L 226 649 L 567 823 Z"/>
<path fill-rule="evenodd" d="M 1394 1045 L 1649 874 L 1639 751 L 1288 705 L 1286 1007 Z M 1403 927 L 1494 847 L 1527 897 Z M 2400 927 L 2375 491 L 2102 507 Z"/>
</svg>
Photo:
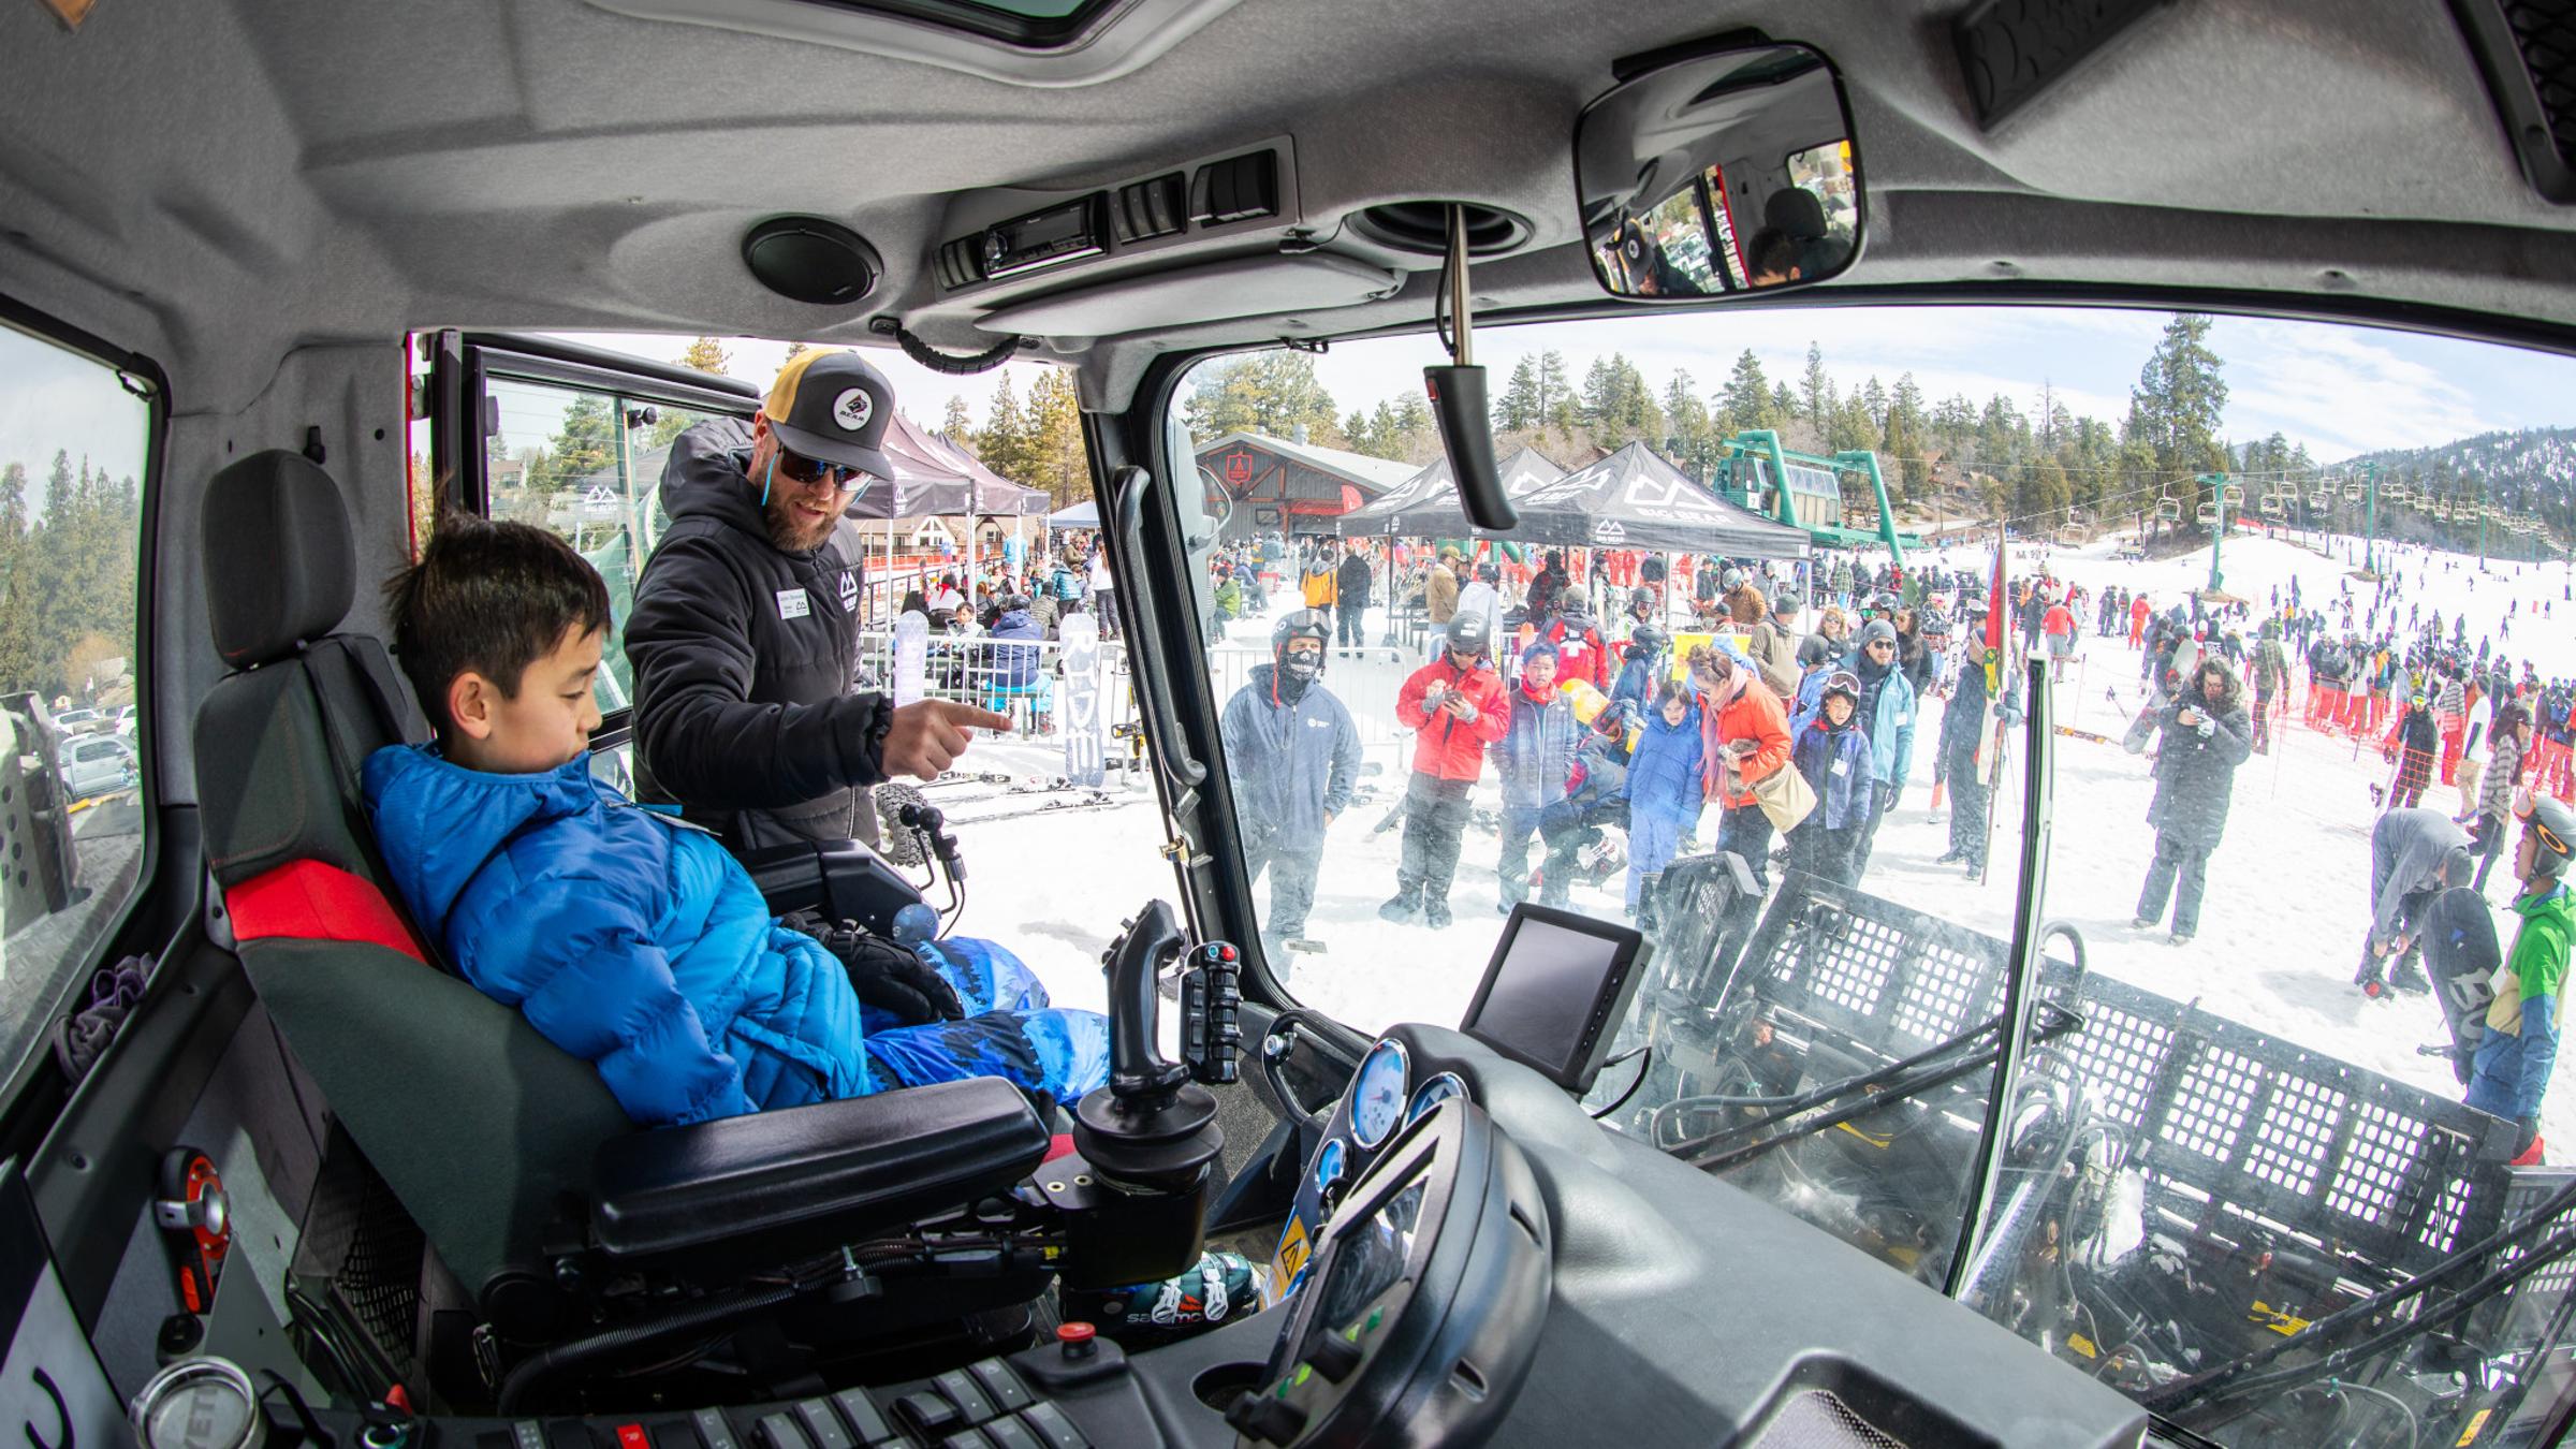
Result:
<svg viewBox="0 0 2576 1449">
<path fill-rule="evenodd" d="M 863 1016 L 840 959 L 770 918 L 714 835 L 590 776 L 484 773 L 428 745 L 366 761 L 394 887 L 477 990 L 600 1070 L 641 1124 L 685 1124 L 971 1075 L 1074 1101 L 1108 1080 L 1108 1024 L 1046 1006 L 1028 967 L 925 954 L 969 1021 Z"/>
</svg>

